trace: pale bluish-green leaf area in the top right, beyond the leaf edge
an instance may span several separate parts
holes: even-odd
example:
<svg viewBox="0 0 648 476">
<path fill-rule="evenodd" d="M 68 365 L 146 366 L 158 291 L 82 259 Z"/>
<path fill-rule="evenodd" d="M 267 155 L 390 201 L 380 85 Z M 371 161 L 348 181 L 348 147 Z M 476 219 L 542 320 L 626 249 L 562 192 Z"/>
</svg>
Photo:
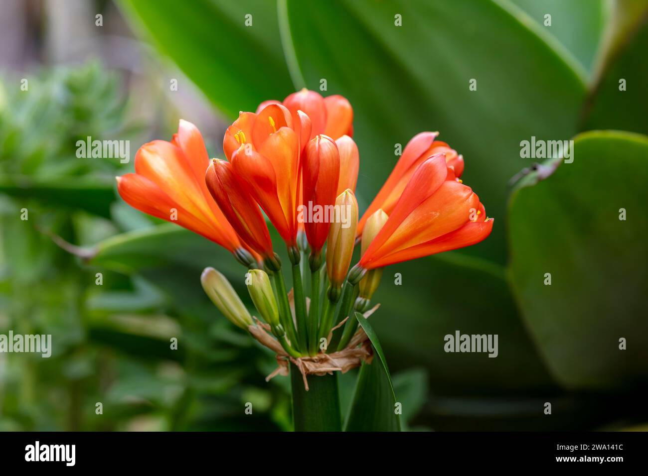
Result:
<svg viewBox="0 0 648 476">
<path fill-rule="evenodd" d="M 603 0 L 511 0 L 540 28 L 546 30 L 587 71 L 592 71 L 599 41 L 607 24 L 607 2 Z M 513 10 L 512 10 L 513 11 Z M 545 15 L 551 25 L 545 25 Z M 522 17 L 520 14 L 520 19 Z"/>
</svg>

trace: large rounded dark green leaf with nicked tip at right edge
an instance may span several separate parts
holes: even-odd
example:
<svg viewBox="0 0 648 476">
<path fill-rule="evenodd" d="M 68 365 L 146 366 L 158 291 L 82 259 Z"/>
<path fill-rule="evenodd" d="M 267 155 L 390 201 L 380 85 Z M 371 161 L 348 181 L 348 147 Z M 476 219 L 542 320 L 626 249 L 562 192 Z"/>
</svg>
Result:
<svg viewBox="0 0 648 476">
<path fill-rule="evenodd" d="M 511 282 L 566 387 L 608 389 L 648 376 L 647 179 L 647 137 L 592 132 L 576 137 L 573 163 L 542 181 L 527 177 L 511 197 Z"/>
</svg>

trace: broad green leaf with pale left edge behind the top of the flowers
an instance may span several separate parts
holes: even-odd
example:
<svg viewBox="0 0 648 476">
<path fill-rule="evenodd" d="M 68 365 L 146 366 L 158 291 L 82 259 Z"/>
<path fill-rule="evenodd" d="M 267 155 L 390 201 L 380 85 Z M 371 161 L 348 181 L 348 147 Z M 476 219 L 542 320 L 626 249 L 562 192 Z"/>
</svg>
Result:
<svg viewBox="0 0 648 476">
<path fill-rule="evenodd" d="M 285 5 L 284 5 L 285 3 Z M 529 159 L 520 141 L 568 139 L 585 95 L 577 63 L 535 23 L 499 1 L 281 0 L 280 22 L 297 85 L 340 93 L 354 107 L 360 202 L 398 157 L 395 144 L 438 130 L 463 153 L 464 182 L 489 216 L 503 218 L 507 181 Z M 402 27 L 395 26 L 395 15 Z M 515 39 L 515 40 L 512 40 Z M 477 80 L 477 90 L 469 82 Z M 496 222 L 496 223 L 502 223 Z M 505 261 L 503 226 L 462 253 Z"/>
</svg>

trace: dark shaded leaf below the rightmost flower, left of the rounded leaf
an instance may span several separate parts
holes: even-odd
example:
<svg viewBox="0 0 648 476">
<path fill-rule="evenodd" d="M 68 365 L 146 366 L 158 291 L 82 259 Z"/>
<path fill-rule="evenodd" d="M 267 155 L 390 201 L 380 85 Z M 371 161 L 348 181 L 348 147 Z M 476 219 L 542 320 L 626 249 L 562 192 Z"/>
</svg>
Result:
<svg viewBox="0 0 648 476">
<path fill-rule="evenodd" d="M 380 308 L 371 324 L 391 368 L 424 365 L 435 394 L 533 392 L 552 385 L 501 266 L 454 252 L 396 264 L 385 269 L 374 301 Z M 498 356 L 445 352 L 445 336 L 457 330 L 498 335 Z"/>
</svg>

